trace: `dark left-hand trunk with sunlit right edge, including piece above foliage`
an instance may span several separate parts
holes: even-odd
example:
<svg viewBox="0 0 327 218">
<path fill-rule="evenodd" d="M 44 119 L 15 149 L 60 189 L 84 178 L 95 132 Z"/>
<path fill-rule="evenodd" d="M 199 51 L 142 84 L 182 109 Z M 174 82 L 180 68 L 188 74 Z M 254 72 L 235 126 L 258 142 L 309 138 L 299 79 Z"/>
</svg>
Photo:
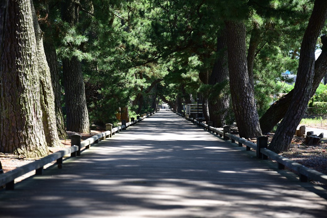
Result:
<svg viewBox="0 0 327 218">
<path fill-rule="evenodd" d="M 74 27 L 78 23 L 78 6 L 73 0 L 62 3 L 62 19 Z M 76 57 L 62 59 L 65 87 L 67 131 L 90 133 L 89 114 L 85 99 L 85 86 L 81 62 Z"/>
</svg>

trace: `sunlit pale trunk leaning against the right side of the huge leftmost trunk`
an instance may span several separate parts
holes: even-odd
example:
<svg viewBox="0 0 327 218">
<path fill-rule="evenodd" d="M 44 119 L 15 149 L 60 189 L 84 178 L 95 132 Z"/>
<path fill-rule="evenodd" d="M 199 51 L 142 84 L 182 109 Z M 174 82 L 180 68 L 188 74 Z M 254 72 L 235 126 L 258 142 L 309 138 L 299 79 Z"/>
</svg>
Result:
<svg viewBox="0 0 327 218">
<path fill-rule="evenodd" d="M 34 6 L 32 4 L 33 25 L 37 46 L 37 61 L 40 76 L 42 120 L 45 139 L 49 147 L 59 147 L 61 142 L 57 132 L 55 97 L 53 94 L 50 69 L 43 48 L 43 32 L 40 29 Z"/>
</svg>

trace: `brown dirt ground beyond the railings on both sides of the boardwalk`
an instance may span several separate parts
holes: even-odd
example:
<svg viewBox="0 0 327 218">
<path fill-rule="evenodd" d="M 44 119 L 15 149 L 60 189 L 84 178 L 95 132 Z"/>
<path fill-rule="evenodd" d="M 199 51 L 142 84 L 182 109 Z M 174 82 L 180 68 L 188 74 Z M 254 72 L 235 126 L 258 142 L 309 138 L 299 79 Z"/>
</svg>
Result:
<svg viewBox="0 0 327 218">
<path fill-rule="evenodd" d="M 324 128 L 319 126 L 310 126 L 315 128 Z M 91 134 L 80 134 L 82 136 L 82 140 L 85 140 L 91 136 L 94 136 L 98 133 L 103 132 L 103 129 L 96 129 L 92 130 Z M 74 132 L 67 132 L 68 136 L 76 134 Z M 272 135 L 268 136 L 270 141 L 272 139 Z M 296 161 L 308 168 L 314 169 L 318 172 L 327 174 L 327 143 L 320 143 L 317 145 L 306 146 L 303 144 L 305 138 L 302 137 L 293 137 L 292 144 L 290 146 L 289 151 L 282 153 L 281 155 Z M 251 139 L 252 142 L 256 143 L 256 139 Z M 62 139 L 61 140 L 62 147 L 58 148 L 51 148 L 49 147 L 49 152 L 54 153 L 59 151 L 62 148 L 70 147 L 70 140 L 69 139 Z M 24 156 L 18 156 L 15 154 L 3 154 L 0 153 L 0 162 L 2 164 L 2 168 L 4 172 L 8 172 L 13 170 L 17 167 L 26 165 L 35 159 L 28 159 Z M 15 180 L 16 181 L 16 180 Z M 316 183 L 312 181 L 313 183 Z M 323 186 L 322 184 L 317 183 L 318 185 Z M 325 189 L 327 186 L 323 186 Z"/>
</svg>

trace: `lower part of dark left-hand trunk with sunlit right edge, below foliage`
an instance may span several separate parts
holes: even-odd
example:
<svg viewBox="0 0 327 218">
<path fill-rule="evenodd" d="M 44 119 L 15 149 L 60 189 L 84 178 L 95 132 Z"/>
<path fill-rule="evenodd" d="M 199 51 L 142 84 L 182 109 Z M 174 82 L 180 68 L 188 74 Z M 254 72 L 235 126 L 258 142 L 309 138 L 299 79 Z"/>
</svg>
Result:
<svg viewBox="0 0 327 218">
<path fill-rule="evenodd" d="M 89 115 L 80 61 L 76 57 L 62 59 L 65 87 L 67 131 L 90 133 Z"/>
</svg>

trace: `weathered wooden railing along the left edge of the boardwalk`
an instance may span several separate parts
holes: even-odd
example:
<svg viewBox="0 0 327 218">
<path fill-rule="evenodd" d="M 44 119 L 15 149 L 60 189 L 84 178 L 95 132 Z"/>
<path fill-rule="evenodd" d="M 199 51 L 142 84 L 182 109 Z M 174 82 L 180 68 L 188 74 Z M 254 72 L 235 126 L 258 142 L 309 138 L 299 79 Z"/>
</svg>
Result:
<svg viewBox="0 0 327 218">
<path fill-rule="evenodd" d="M 150 115 L 154 114 L 153 113 L 146 113 L 140 116 L 137 116 L 137 119 L 131 118 L 131 122 L 126 123 L 126 121 L 122 122 L 121 126 L 117 126 L 115 128 L 112 128 L 112 124 L 106 124 L 106 132 L 97 134 L 95 136 L 92 136 L 84 141 L 81 141 L 81 136 L 78 134 L 72 135 L 71 136 L 71 147 L 70 148 L 65 148 L 62 149 L 58 152 L 55 152 L 53 154 L 50 154 L 46 157 L 43 157 L 39 160 L 35 160 L 32 163 L 26 164 L 22 167 L 18 167 L 14 170 L 11 170 L 7 173 L 1 173 L 0 174 L 0 186 L 5 185 L 6 190 L 13 190 L 14 189 L 14 180 L 26 173 L 29 173 L 33 170 L 35 170 L 35 175 L 42 175 L 44 166 L 47 164 L 50 164 L 54 161 L 56 163 L 53 164 L 58 164 L 58 168 L 62 168 L 62 163 L 63 163 L 63 157 L 66 155 L 69 155 L 71 157 L 76 157 L 79 156 L 82 149 L 88 149 L 90 146 L 94 143 L 98 143 L 99 140 L 105 140 L 108 137 L 111 137 L 115 133 L 119 133 L 123 130 L 126 130 L 129 126 L 133 126 L 136 123 L 144 120 L 145 118 L 149 117 Z M 83 149 L 83 150 L 85 150 Z"/>
</svg>

